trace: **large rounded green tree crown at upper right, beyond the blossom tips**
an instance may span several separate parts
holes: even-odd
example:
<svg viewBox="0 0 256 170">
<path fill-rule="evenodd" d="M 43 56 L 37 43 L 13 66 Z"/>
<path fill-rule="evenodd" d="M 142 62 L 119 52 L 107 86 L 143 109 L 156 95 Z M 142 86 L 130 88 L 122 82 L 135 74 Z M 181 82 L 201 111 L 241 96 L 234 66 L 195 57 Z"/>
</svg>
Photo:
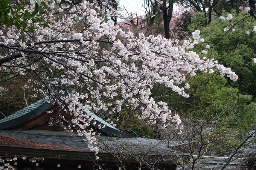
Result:
<svg viewBox="0 0 256 170">
<path fill-rule="evenodd" d="M 219 63 L 235 71 L 238 75 L 238 81 L 228 81 L 229 85 L 239 89 L 239 93 L 252 95 L 253 100 L 256 97 L 256 67 L 252 64 L 252 59 L 256 57 L 256 34 L 253 32 L 253 26 L 256 21 L 245 12 L 238 15 L 232 10 L 232 20 L 215 20 L 207 27 L 201 27 L 201 36 L 205 43 L 213 47 L 208 56 L 218 60 Z M 224 13 L 222 16 L 227 17 Z M 245 18 L 248 17 L 248 18 Z M 238 22 L 235 26 L 233 23 Z M 224 32 L 228 27 L 229 32 Z M 235 32 L 232 32 L 232 29 Z M 246 32 L 249 31 L 250 35 Z M 224 35 L 226 33 L 226 35 Z M 204 48 L 201 44 L 197 48 Z M 202 49 L 200 48 L 200 50 Z M 211 49 L 210 49 L 211 50 Z M 199 50 L 198 50 L 199 52 Z"/>
</svg>

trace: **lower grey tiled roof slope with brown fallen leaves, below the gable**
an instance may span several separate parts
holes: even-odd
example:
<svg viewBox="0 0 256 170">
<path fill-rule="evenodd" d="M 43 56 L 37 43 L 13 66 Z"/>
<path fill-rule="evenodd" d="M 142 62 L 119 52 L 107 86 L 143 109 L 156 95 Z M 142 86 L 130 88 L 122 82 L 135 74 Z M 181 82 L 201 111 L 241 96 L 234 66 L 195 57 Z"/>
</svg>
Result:
<svg viewBox="0 0 256 170">
<path fill-rule="evenodd" d="M 56 132 L 56 133 L 55 133 Z M 11 141 L 1 142 L 3 136 L 12 137 L 20 141 L 13 143 Z M 40 144 L 40 145 L 38 145 Z M 173 146 L 178 145 L 178 142 L 173 142 Z M 123 153 L 131 152 L 134 150 L 138 154 L 147 153 L 150 155 L 172 155 L 173 152 L 166 147 L 166 144 L 161 140 L 154 140 L 141 137 L 107 137 L 102 136 L 98 139 L 98 145 L 103 149 L 99 152 L 104 153 L 104 150 L 119 150 Z M 70 150 L 80 152 L 92 152 L 88 150 L 88 142 L 84 140 L 84 137 L 77 136 L 75 133 L 70 136 L 69 133 L 64 131 L 47 131 L 47 130 L 0 130 L 0 146 L 12 146 L 12 147 L 26 147 L 31 149 L 50 149 L 50 150 Z M 176 152 L 176 154 L 178 151 Z M 180 152 L 180 155 L 183 153 Z"/>
</svg>

